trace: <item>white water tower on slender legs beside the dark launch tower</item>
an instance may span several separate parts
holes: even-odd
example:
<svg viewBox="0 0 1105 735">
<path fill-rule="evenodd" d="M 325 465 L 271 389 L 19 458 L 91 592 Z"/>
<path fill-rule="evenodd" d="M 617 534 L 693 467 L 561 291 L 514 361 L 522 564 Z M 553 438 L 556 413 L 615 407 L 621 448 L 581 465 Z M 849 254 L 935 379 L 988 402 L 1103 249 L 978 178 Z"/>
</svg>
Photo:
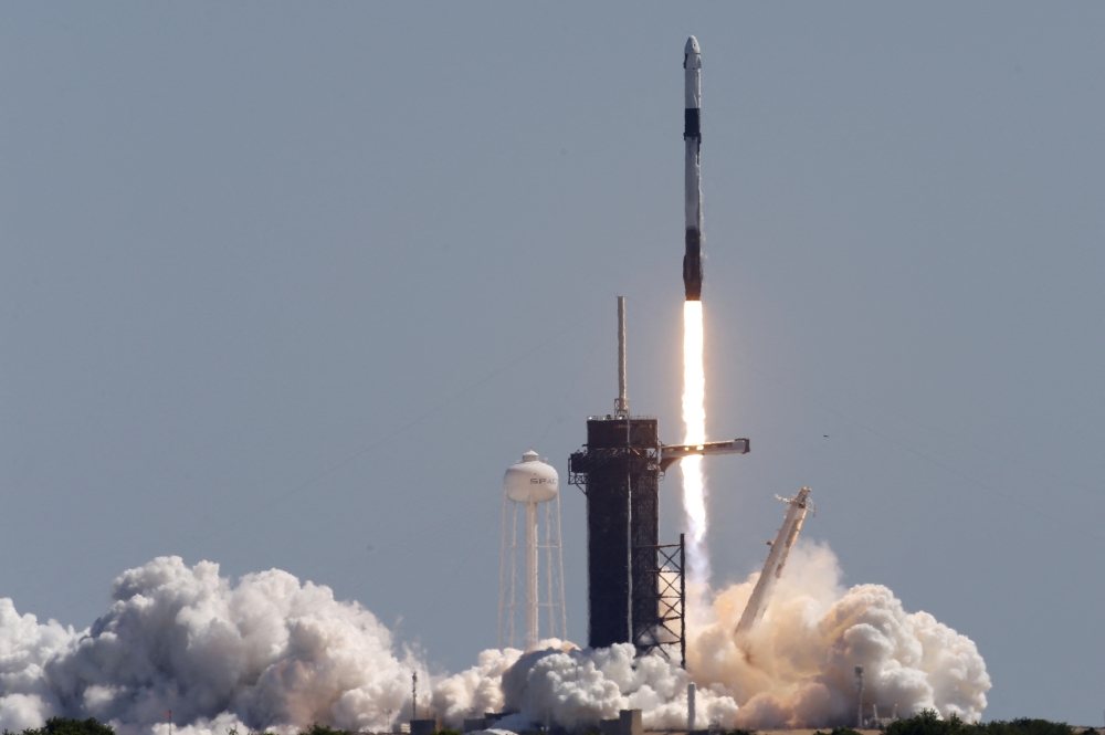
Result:
<svg viewBox="0 0 1105 735">
<path fill-rule="evenodd" d="M 544 506 L 544 523 L 539 522 Z M 518 516 L 525 542 L 518 546 Z M 509 529 L 507 517 L 509 516 Z M 544 526 L 544 529 L 543 529 Z M 524 553 L 519 553 L 525 549 Z M 564 557 L 560 550 L 560 492 L 556 470 L 529 450 L 503 477 L 503 554 L 498 571 L 498 648 L 514 647 L 517 618 L 518 561 L 525 564 L 526 650 L 541 638 L 568 637 L 564 605 Z M 544 574 L 543 574 L 544 569 Z M 543 592 L 544 588 L 544 592 Z M 544 611 L 544 615 L 543 615 Z"/>
</svg>

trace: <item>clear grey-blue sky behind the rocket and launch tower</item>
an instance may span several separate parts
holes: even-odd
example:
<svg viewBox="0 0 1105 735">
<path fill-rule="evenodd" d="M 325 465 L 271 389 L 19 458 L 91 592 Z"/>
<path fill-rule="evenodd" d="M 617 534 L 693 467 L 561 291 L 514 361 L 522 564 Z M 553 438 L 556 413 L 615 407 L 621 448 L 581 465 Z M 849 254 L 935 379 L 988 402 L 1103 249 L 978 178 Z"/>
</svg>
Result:
<svg viewBox="0 0 1105 735">
<path fill-rule="evenodd" d="M 0 595 L 83 628 L 157 555 L 280 567 L 471 665 L 503 471 L 612 409 L 619 294 L 681 437 L 691 33 L 708 431 L 753 441 L 715 581 L 811 485 L 987 717 L 1099 725 L 1101 3 L 4 6 Z"/>
</svg>

